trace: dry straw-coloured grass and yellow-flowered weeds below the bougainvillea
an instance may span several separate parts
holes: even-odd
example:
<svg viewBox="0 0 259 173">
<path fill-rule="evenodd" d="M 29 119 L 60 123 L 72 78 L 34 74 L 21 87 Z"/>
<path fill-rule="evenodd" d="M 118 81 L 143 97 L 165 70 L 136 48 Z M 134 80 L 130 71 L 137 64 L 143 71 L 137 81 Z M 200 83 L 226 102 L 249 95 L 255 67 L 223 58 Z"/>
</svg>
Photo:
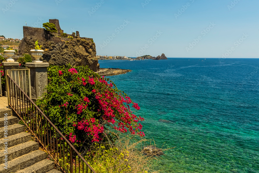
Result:
<svg viewBox="0 0 259 173">
<path fill-rule="evenodd" d="M 142 149 L 145 146 L 155 146 L 152 139 L 139 139 L 137 135 L 128 135 L 118 138 L 115 144 L 110 144 L 110 149 L 105 150 L 104 147 L 97 147 L 94 150 L 95 156 L 89 157 L 87 160 L 96 172 L 100 173 L 147 173 L 159 172 L 152 169 L 152 160 L 160 161 L 160 157 L 153 155 L 145 155 Z M 165 151 L 169 149 L 161 149 Z M 92 151 L 91 151 L 92 152 Z"/>
</svg>

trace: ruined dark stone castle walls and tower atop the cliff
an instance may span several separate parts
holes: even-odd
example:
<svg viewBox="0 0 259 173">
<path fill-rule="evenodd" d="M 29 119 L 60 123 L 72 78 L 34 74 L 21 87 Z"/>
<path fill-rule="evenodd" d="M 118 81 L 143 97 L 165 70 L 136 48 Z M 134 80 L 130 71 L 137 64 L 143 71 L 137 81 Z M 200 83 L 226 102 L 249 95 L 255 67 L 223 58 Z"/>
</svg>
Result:
<svg viewBox="0 0 259 173">
<path fill-rule="evenodd" d="M 53 23 L 56 26 L 57 33 L 50 33 L 45 28 L 34 28 L 30 26 L 23 26 L 23 37 L 26 38 L 36 38 L 39 41 L 49 40 L 54 42 L 60 41 L 69 41 L 71 38 L 67 38 L 68 36 L 72 36 L 73 38 L 81 38 L 85 40 L 93 40 L 92 38 L 80 37 L 79 32 L 76 31 L 72 34 L 67 34 L 66 37 L 60 37 L 60 31 L 64 33 L 64 31 L 60 28 L 58 19 L 49 19 L 49 23 Z"/>
</svg>

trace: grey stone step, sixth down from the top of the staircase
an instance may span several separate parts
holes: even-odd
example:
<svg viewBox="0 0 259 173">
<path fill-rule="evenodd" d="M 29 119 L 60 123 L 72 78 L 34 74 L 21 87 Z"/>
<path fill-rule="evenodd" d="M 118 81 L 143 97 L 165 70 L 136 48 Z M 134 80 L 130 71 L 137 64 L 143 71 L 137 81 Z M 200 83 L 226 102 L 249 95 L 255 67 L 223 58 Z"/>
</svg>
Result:
<svg viewBox="0 0 259 173">
<path fill-rule="evenodd" d="M 31 165 L 46 159 L 46 153 L 44 151 L 36 150 L 25 154 L 23 156 L 17 157 L 11 161 L 8 161 L 8 169 L 5 169 L 5 163 L 0 165 L 0 172 L 12 173 L 24 168 L 30 167 Z M 53 163 L 54 164 L 54 163 Z M 53 168 L 52 168 L 53 169 Z"/>
</svg>

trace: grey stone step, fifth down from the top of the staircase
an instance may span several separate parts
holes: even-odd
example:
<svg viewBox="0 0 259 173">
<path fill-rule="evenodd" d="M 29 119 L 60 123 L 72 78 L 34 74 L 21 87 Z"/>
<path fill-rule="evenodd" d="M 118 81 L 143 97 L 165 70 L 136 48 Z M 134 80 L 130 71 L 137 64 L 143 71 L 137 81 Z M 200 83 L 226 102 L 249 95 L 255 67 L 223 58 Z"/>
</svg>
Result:
<svg viewBox="0 0 259 173">
<path fill-rule="evenodd" d="M 15 145 L 13 147 L 8 147 L 8 153 L 5 153 L 5 150 L 0 151 L 0 164 L 4 163 L 5 155 L 7 155 L 8 161 L 13 160 L 22 155 L 28 154 L 32 151 L 39 149 L 39 143 L 34 141 L 28 141 L 19 145 Z"/>
</svg>

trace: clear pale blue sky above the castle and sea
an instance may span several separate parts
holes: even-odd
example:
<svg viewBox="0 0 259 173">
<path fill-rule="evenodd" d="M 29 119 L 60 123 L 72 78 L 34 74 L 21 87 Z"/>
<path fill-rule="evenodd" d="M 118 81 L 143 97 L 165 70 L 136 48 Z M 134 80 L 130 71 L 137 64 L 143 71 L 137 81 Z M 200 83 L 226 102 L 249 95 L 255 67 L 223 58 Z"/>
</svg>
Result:
<svg viewBox="0 0 259 173">
<path fill-rule="evenodd" d="M 0 35 L 22 38 L 25 21 L 27 26 L 42 27 L 56 18 L 64 32 L 79 31 L 81 37 L 93 38 L 97 55 L 259 58 L 258 0 L 101 2 L 0 0 Z"/>
</svg>

